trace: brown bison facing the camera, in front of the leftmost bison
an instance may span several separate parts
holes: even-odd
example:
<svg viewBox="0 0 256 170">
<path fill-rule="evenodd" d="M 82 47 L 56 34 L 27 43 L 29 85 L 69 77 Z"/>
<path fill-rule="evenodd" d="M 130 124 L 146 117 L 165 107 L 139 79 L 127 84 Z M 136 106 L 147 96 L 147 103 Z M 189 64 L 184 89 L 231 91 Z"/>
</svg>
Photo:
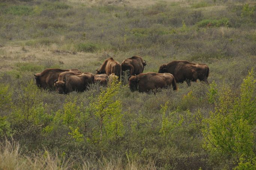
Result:
<svg viewBox="0 0 256 170">
<path fill-rule="evenodd" d="M 89 73 L 75 74 L 73 72 L 63 72 L 54 82 L 57 91 L 61 94 L 67 94 L 73 91 L 83 92 L 89 84 L 94 83 L 94 75 Z"/>
</svg>

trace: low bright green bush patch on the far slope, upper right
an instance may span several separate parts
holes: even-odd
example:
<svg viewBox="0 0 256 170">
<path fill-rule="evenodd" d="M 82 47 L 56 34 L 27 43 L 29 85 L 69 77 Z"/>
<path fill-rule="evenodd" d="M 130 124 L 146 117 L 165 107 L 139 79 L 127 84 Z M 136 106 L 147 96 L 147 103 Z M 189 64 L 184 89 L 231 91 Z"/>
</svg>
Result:
<svg viewBox="0 0 256 170">
<path fill-rule="evenodd" d="M 220 20 L 205 19 L 196 23 L 198 27 L 206 27 L 208 24 L 213 27 L 229 27 L 229 19 L 221 18 Z"/>
</svg>

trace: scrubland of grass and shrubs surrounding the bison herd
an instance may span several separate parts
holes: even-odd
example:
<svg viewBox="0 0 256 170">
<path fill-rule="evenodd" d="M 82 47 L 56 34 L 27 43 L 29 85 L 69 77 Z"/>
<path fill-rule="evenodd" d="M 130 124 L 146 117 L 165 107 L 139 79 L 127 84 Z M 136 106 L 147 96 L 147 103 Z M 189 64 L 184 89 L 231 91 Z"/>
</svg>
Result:
<svg viewBox="0 0 256 170">
<path fill-rule="evenodd" d="M 205 63 L 210 85 L 60 95 L 33 79 L 133 55 L 144 72 Z M 255 169 L 255 63 L 254 0 L 0 0 L 0 169 Z"/>
</svg>

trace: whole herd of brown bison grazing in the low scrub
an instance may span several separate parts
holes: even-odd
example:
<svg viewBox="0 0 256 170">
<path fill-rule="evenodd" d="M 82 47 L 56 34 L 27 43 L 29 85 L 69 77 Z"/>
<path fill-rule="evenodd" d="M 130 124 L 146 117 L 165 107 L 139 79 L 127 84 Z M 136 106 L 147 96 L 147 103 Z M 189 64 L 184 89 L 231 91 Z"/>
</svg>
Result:
<svg viewBox="0 0 256 170">
<path fill-rule="evenodd" d="M 96 74 L 81 72 L 78 69 L 45 69 L 41 73 L 34 73 L 36 85 L 42 89 L 51 91 L 57 90 L 61 94 L 72 91 L 82 92 L 89 84 L 99 83 L 106 86 L 116 77 L 120 81 L 128 74 L 131 91 L 149 92 L 161 88 L 173 87 L 178 90 L 176 83 L 191 81 L 208 83 L 209 67 L 205 64 L 190 63 L 185 60 L 172 61 L 160 66 L 158 73 L 143 73 L 146 61 L 140 56 L 133 56 L 123 60 L 120 64 L 112 57 L 106 59 L 101 67 L 96 70 Z"/>
</svg>

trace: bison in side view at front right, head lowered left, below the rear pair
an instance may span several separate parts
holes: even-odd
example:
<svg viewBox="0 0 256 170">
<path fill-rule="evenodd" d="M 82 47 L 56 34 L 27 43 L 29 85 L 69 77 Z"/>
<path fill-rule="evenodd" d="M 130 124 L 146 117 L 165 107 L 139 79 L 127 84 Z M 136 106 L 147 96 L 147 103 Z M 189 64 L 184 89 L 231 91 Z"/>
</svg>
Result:
<svg viewBox="0 0 256 170">
<path fill-rule="evenodd" d="M 129 78 L 129 88 L 131 91 L 149 92 L 159 88 L 173 86 L 173 90 L 178 90 L 175 78 L 170 73 L 147 72 L 139 75 L 132 75 Z"/>
</svg>

